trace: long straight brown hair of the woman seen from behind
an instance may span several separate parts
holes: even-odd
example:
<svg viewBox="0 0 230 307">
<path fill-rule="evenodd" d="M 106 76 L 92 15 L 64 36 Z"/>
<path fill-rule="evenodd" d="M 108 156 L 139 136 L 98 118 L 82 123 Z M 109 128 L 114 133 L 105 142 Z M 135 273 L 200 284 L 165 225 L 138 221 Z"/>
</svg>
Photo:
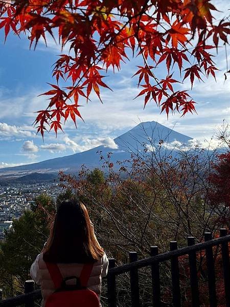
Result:
<svg viewBox="0 0 230 307">
<path fill-rule="evenodd" d="M 86 207 L 76 199 L 62 202 L 45 247 L 44 261 L 86 263 L 97 261 L 103 254 Z"/>
</svg>

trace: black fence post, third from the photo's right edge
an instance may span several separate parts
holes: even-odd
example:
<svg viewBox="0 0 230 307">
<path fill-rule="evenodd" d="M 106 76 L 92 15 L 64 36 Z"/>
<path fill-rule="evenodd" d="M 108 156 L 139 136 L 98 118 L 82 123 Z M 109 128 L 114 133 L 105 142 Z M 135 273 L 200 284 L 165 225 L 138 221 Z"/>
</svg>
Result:
<svg viewBox="0 0 230 307">
<path fill-rule="evenodd" d="M 188 240 L 188 246 L 195 245 L 195 237 L 188 237 L 187 240 Z M 192 306 L 198 307 L 200 303 L 199 303 L 199 288 L 198 288 L 195 251 L 189 253 L 189 269 L 190 269 L 190 284 L 192 291 Z"/>
</svg>

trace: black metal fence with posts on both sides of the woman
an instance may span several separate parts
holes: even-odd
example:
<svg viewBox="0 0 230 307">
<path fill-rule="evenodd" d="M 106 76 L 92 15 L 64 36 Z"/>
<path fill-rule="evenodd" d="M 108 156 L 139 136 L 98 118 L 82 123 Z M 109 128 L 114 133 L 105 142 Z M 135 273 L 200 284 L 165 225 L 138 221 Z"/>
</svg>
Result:
<svg viewBox="0 0 230 307">
<path fill-rule="evenodd" d="M 199 307 L 199 287 L 197 276 L 197 252 L 205 251 L 206 268 L 208 272 L 208 289 L 210 307 L 218 307 L 216 293 L 216 277 L 215 277 L 215 261 L 213 247 L 221 247 L 222 272 L 224 280 L 225 306 L 230 307 L 230 270 L 229 270 L 229 250 L 228 242 L 230 235 L 227 235 L 226 229 L 220 229 L 220 237 L 212 239 L 212 233 L 204 234 L 204 242 L 195 244 L 194 237 L 188 237 L 188 246 L 177 248 L 177 242 L 170 242 L 170 251 L 158 254 L 158 248 L 152 246 L 150 250 L 151 257 L 137 260 L 137 253 L 129 253 L 129 264 L 116 267 L 115 259 L 109 259 L 109 271 L 107 275 L 107 298 L 109 307 L 117 307 L 116 292 L 116 276 L 129 273 L 130 289 L 131 289 L 131 306 L 140 307 L 139 292 L 139 269 L 151 267 L 152 279 L 152 306 L 161 307 L 162 299 L 160 293 L 160 262 L 170 260 L 171 262 L 171 283 L 172 283 L 172 305 L 173 307 L 181 307 L 181 291 L 180 291 L 180 275 L 179 275 L 179 257 L 188 255 L 189 258 L 189 278 L 192 296 L 192 307 Z M 41 298 L 40 290 L 34 291 L 34 283 L 32 281 L 25 282 L 25 293 L 1 302 L 0 291 L 0 307 L 16 307 L 25 304 L 26 307 L 34 307 L 34 301 Z"/>
</svg>

